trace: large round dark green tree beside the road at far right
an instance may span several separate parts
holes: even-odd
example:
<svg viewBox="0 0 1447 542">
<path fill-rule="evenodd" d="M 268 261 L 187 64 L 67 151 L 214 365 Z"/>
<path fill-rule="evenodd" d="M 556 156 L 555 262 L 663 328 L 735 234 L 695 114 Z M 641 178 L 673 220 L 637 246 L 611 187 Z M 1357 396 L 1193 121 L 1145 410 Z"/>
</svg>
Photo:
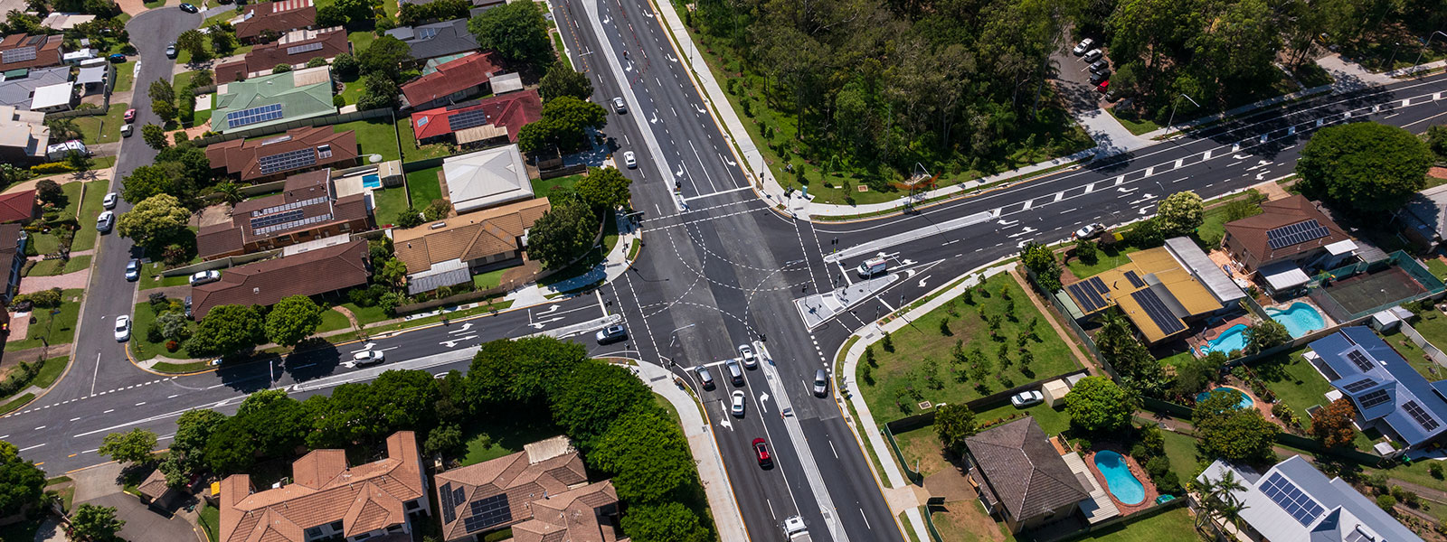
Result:
<svg viewBox="0 0 1447 542">
<path fill-rule="evenodd" d="M 1380 123 L 1317 130 L 1301 149 L 1302 192 L 1344 211 L 1391 212 L 1427 185 L 1433 153 L 1411 132 Z"/>
</svg>

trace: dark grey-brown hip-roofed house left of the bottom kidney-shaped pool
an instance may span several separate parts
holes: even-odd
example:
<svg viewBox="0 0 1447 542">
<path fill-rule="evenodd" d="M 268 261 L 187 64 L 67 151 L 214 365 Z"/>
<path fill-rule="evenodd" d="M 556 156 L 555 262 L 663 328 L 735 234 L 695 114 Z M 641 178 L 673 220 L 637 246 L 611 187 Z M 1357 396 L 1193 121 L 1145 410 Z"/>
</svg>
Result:
<svg viewBox="0 0 1447 542">
<path fill-rule="evenodd" d="M 980 499 L 1013 533 L 1065 519 L 1090 499 L 1035 418 L 981 431 L 965 447 Z"/>
</svg>

